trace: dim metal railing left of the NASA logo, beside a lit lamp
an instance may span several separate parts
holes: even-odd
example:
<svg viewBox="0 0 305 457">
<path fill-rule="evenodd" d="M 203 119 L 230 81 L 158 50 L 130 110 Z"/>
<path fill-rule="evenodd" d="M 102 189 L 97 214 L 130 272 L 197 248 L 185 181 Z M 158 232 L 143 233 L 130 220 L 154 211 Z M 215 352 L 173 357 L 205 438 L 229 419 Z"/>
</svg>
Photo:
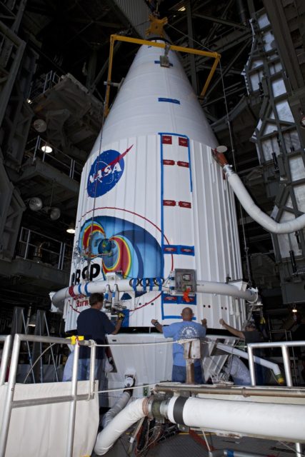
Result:
<svg viewBox="0 0 305 457">
<path fill-rule="evenodd" d="M 81 179 L 82 165 L 59 148 L 42 139 L 41 136 L 29 141 L 26 145 L 26 154 L 31 157 L 32 164 L 39 158 L 44 163 L 54 166 L 55 169 L 66 174 L 69 178 L 76 181 Z"/>
</svg>

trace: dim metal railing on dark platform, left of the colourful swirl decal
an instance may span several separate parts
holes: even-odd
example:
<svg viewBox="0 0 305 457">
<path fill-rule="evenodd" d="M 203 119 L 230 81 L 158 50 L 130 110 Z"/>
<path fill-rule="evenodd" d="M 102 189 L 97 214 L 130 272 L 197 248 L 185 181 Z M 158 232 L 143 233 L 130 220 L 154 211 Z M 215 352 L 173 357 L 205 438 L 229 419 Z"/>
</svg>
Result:
<svg viewBox="0 0 305 457">
<path fill-rule="evenodd" d="M 51 236 L 21 227 L 17 255 L 58 270 L 69 270 L 71 246 Z"/>
</svg>

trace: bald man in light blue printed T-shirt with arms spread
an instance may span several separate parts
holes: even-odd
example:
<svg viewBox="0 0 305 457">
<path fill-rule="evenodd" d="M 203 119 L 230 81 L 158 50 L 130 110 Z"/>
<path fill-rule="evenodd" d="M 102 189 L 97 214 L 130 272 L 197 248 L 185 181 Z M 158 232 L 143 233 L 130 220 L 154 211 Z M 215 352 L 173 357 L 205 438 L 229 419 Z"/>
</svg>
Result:
<svg viewBox="0 0 305 457">
<path fill-rule="evenodd" d="M 181 313 L 182 322 L 171 323 L 170 326 L 162 326 L 156 319 L 151 323 L 156 329 L 163 333 L 165 338 L 173 338 L 174 341 L 184 338 L 204 338 L 206 336 L 206 319 L 200 323 L 193 322 L 194 313 L 191 308 L 184 308 Z M 178 383 L 186 382 L 186 361 L 184 359 L 184 347 L 179 343 L 173 345 L 173 371 L 171 381 Z M 194 362 L 195 383 L 204 383 L 204 373 L 201 370 L 200 360 Z"/>
</svg>

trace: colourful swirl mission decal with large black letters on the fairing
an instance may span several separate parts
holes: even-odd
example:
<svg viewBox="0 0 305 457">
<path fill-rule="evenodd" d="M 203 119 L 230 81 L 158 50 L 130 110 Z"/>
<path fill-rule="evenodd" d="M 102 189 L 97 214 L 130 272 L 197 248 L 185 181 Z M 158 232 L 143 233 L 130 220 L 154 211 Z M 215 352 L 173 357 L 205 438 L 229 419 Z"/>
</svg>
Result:
<svg viewBox="0 0 305 457">
<path fill-rule="evenodd" d="M 95 216 L 81 227 L 79 251 L 87 261 L 72 274 L 71 283 L 106 279 L 117 272 L 123 278 L 161 278 L 164 258 L 156 238 L 133 222 Z M 89 261 L 90 259 L 90 261 Z"/>
</svg>

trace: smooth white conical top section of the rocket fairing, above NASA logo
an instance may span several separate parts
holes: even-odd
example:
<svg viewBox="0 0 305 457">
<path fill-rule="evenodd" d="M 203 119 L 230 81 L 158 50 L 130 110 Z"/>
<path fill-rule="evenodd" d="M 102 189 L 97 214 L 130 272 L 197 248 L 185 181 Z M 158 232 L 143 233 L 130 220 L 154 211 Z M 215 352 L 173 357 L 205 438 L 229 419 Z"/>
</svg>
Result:
<svg viewBox="0 0 305 457">
<path fill-rule="evenodd" d="M 215 147 L 217 142 L 176 53 L 141 46 L 103 129 L 103 144 L 131 136 L 174 132 Z M 94 152 L 99 147 L 96 141 Z"/>
</svg>

